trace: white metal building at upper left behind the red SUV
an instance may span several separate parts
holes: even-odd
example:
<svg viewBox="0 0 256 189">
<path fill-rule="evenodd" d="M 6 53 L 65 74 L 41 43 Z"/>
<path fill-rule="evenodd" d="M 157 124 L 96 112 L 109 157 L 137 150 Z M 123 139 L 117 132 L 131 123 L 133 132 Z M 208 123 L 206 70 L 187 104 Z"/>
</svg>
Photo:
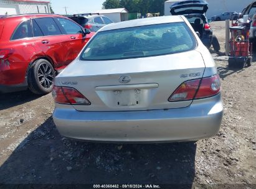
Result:
<svg viewBox="0 0 256 189">
<path fill-rule="evenodd" d="M 0 6 L 1 4 L 17 5 L 17 14 L 50 13 L 50 4 L 47 2 L 0 0 Z"/>
</svg>

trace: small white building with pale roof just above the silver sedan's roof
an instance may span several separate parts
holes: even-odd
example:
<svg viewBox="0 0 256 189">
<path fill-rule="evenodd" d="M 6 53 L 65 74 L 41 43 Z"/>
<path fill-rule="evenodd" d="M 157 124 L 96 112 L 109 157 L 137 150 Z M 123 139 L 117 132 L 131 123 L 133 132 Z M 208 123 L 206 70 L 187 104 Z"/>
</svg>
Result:
<svg viewBox="0 0 256 189">
<path fill-rule="evenodd" d="M 94 14 L 102 14 L 109 17 L 113 22 L 128 21 L 129 14 L 125 8 L 120 9 L 102 9 L 93 12 Z"/>
</svg>

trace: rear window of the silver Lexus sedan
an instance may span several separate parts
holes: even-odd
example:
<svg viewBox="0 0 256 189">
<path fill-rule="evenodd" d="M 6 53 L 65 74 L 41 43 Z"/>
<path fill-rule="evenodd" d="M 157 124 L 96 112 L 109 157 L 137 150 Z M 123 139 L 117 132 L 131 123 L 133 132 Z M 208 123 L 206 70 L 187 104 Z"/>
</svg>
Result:
<svg viewBox="0 0 256 189">
<path fill-rule="evenodd" d="M 196 39 L 184 22 L 145 25 L 98 32 L 81 60 L 117 60 L 185 52 Z"/>
</svg>

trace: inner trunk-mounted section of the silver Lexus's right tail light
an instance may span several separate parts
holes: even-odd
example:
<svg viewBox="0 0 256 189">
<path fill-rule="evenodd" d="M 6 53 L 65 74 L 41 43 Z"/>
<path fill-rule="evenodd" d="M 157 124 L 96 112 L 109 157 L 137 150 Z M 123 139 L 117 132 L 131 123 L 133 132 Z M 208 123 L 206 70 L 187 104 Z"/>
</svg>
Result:
<svg viewBox="0 0 256 189">
<path fill-rule="evenodd" d="M 186 81 L 170 96 L 169 101 L 191 100 L 196 95 L 201 79 Z"/>
</svg>

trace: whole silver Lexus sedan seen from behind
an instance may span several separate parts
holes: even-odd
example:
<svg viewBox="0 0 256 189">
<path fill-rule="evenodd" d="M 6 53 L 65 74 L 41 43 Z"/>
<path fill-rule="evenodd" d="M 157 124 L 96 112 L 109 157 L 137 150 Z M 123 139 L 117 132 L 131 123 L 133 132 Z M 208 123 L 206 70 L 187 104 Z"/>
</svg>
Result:
<svg viewBox="0 0 256 189">
<path fill-rule="evenodd" d="M 54 85 L 55 125 L 73 139 L 196 141 L 222 121 L 214 60 L 184 16 L 103 27 Z"/>
</svg>

